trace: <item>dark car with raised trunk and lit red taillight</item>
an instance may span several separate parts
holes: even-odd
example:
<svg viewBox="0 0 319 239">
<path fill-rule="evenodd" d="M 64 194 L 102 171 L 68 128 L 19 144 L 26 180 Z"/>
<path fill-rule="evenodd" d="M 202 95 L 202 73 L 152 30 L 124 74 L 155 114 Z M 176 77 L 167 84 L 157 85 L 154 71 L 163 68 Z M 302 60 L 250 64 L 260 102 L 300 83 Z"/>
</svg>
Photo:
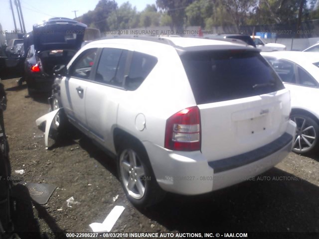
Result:
<svg viewBox="0 0 319 239">
<path fill-rule="evenodd" d="M 63 17 L 33 25 L 33 32 L 24 36 L 24 72 L 29 95 L 51 90 L 53 67 L 66 65 L 81 48 L 86 27 Z"/>
</svg>

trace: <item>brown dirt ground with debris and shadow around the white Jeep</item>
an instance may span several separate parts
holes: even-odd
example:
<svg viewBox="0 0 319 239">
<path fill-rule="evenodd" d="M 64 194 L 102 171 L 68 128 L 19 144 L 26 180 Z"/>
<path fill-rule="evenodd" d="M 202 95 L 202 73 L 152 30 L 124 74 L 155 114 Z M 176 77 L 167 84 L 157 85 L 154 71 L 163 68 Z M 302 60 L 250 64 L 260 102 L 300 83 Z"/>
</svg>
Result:
<svg viewBox="0 0 319 239">
<path fill-rule="evenodd" d="M 125 210 L 112 232 L 319 233 L 319 155 L 290 153 L 254 180 L 201 196 L 167 194 L 156 207 L 138 210 L 125 197 L 115 162 L 85 136 L 58 140 L 45 150 L 35 119 L 48 112 L 47 97 L 29 98 L 26 86 L 17 87 L 15 81 L 2 81 L 8 98 L 4 121 L 14 183 L 57 187 L 48 203 L 40 205 L 24 186 L 15 186 L 18 232 L 33 232 L 30 238 L 89 232 L 89 224 L 102 223 L 115 205 L 122 205 Z M 25 170 L 23 175 L 14 173 L 20 169 Z M 80 204 L 67 207 L 71 196 Z"/>
</svg>

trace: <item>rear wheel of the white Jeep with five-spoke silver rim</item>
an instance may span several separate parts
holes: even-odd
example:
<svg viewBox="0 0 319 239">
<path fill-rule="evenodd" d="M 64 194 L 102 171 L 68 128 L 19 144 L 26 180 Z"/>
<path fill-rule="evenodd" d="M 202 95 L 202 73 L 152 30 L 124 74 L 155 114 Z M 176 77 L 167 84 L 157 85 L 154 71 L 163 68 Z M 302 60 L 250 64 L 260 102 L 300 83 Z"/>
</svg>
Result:
<svg viewBox="0 0 319 239">
<path fill-rule="evenodd" d="M 147 152 L 139 143 L 122 142 L 117 168 L 124 192 L 134 206 L 150 207 L 165 196 L 156 181 Z"/>
</svg>

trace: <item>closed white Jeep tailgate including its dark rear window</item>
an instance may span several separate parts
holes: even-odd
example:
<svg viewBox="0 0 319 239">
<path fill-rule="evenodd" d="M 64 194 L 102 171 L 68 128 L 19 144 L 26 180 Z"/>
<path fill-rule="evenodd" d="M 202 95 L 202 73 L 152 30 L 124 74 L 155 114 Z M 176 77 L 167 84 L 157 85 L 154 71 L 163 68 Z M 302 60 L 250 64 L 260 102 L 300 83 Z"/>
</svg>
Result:
<svg viewBox="0 0 319 239">
<path fill-rule="evenodd" d="M 253 151 L 282 136 L 290 94 L 256 50 L 181 55 L 201 119 L 201 152 L 208 161 Z"/>
</svg>

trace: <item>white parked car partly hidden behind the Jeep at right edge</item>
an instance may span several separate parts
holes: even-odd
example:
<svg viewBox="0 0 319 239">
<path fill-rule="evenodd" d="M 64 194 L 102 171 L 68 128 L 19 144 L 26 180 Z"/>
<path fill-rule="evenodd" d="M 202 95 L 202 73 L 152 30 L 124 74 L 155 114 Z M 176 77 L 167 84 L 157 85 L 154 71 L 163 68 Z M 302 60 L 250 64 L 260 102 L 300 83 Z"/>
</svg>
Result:
<svg viewBox="0 0 319 239">
<path fill-rule="evenodd" d="M 292 114 L 297 124 L 296 153 L 319 150 L 319 55 L 313 52 L 262 53 L 290 90 Z"/>
</svg>

